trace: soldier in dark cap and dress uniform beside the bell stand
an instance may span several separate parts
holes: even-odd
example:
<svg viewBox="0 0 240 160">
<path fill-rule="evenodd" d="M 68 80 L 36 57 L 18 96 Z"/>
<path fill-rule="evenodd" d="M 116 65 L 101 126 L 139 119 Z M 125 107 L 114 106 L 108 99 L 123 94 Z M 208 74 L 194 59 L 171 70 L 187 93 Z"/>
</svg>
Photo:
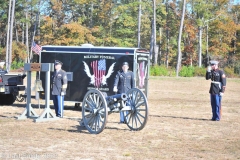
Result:
<svg viewBox="0 0 240 160">
<path fill-rule="evenodd" d="M 66 95 L 67 90 L 67 74 L 62 70 L 63 63 L 61 61 L 55 60 L 55 71 L 52 75 L 52 96 L 53 104 L 55 108 L 55 113 L 57 117 L 63 117 L 64 110 L 64 95 Z"/>
</svg>

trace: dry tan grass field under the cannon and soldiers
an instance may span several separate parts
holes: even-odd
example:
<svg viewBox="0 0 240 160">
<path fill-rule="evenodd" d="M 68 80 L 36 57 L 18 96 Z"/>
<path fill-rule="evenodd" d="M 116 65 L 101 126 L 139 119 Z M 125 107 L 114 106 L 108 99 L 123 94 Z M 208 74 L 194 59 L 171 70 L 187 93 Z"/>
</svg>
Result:
<svg viewBox="0 0 240 160">
<path fill-rule="evenodd" d="M 227 79 L 221 121 L 210 121 L 210 81 L 151 77 L 149 117 L 141 131 L 108 116 L 98 135 L 79 125 L 81 111 L 66 104 L 63 119 L 16 120 L 24 102 L 0 107 L 0 159 L 240 159 L 240 79 Z M 41 113 L 37 101 L 32 106 Z"/>
</svg>

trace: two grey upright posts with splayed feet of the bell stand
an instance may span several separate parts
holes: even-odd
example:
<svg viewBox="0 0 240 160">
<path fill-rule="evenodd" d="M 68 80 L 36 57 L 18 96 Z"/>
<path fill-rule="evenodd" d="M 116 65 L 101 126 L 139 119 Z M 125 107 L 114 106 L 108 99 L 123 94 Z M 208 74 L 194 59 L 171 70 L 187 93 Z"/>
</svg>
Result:
<svg viewBox="0 0 240 160">
<path fill-rule="evenodd" d="M 18 120 L 26 119 L 26 118 L 35 118 L 34 122 L 44 122 L 50 120 L 57 120 L 58 117 L 52 112 L 49 107 L 49 100 L 50 100 L 50 71 L 52 70 L 51 63 L 42 63 L 41 64 L 41 71 L 46 72 L 46 79 L 45 79 L 45 109 L 41 113 L 40 116 L 36 114 L 36 112 L 31 107 L 31 65 L 25 64 L 24 70 L 28 71 L 28 79 L 27 79 L 27 107 L 25 111 L 22 113 L 21 116 L 17 117 Z M 31 113 L 33 115 L 31 115 Z"/>
</svg>

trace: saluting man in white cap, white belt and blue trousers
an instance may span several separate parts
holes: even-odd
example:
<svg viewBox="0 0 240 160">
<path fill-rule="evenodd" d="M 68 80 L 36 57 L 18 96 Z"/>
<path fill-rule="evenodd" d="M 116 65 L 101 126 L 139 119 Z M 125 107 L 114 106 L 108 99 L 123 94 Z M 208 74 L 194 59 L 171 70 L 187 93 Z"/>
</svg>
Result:
<svg viewBox="0 0 240 160">
<path fill-rule="evenodd" d="M 218 68 L 218 61 L 210 61 L 206 72 L 206 80 L 211 79 L 209 90 L 212 106 L 212 121 L 219 121 L 221 118 L 221 100 L 226 88 L 226 75 Z"/>
</svg>

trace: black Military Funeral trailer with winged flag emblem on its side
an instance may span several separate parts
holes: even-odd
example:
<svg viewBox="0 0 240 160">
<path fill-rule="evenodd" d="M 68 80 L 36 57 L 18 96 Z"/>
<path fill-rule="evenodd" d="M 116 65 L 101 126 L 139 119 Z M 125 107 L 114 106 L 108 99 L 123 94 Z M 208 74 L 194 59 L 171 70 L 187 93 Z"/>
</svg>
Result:
<svg viewBox="0 0 240 160">
<path fill-rule="evenodd" d="M 41 63 L 63 62 L 62 69 L 68 72 L 72 80 L 68 82 L 65 101 L 81 102 L 85 93 L 98 88 L 107 95 L 113 95 L 113 83 L 117 71 L 123 62 L 129 63 L 133 71 L 136 87 L 147 95 L 149 70 L 149 52 L 139 48 L 121 47 L 78 47 L 78 46 L 42 46 Z M 45 87 L 45 74 L 40 79 Z M 41 93 L 44 98 L 44 92 Z"/>
</svg>

